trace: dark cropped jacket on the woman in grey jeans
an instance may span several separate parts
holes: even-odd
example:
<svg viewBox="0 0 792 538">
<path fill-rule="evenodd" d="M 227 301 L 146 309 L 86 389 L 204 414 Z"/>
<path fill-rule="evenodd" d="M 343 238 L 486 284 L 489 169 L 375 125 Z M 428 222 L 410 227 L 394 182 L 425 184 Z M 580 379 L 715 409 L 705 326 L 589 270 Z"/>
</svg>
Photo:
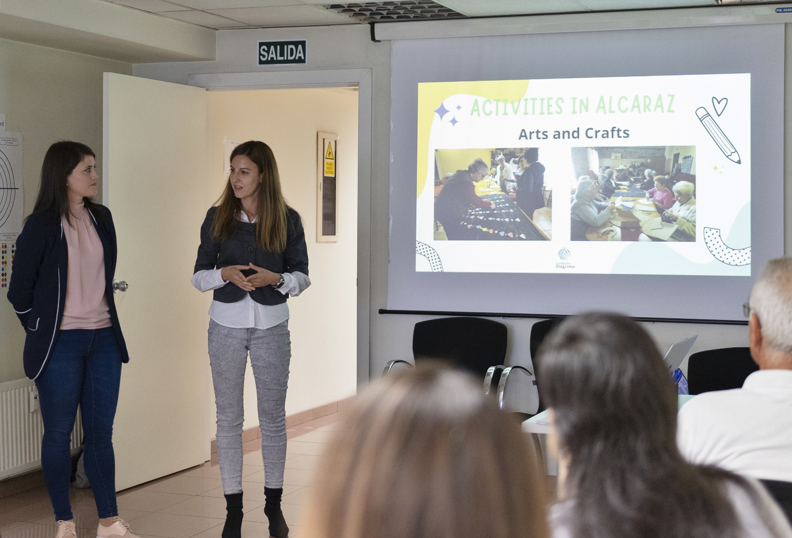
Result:
<svg viewBox="0 0 792 538">
<path fill-rule="evenodd" d="M 195 269 L 192 273 L 204 269 L 223 269 L 228 265 L 248 265 L 253 263 L 272 273 L 303 273 L 308 274 L 308 247 L 305 244 L 303 220 L 299 213 L 288 208 L 286 225 L 286 248 L 283 252 L 268 252 L 261 248 L 256 240 L 256 225 L 238 221 L 234 235 L 226 241 L 216 241 L 211 233 L 215 220 L 216 207 L 206 212 L 204 224 L 200 227 L 200 246 L 196 257 Z M 249 276 L 253 269 L 242 271 Z M 286 296 L 272 286 L 261 286 L 252 292 L 246 292 L 237 284 L 229 282 L 223 288 L 215 289 L 214 300 L 220 303 L 236 303 L 244 299 L 245 294 L 259 304 L 280 304 L 286 302 Z"/>
</svg>

